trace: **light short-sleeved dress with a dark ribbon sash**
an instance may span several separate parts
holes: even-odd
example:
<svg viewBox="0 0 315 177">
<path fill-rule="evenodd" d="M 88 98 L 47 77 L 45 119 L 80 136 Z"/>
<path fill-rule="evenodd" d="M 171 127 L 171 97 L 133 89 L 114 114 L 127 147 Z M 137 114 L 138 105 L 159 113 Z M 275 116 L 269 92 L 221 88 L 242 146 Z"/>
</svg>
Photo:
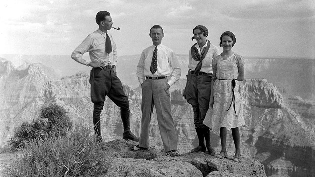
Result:
<svg viewBox="0 0 315 177">
<path fill-rule="evenodd" d="M 236 128 L 245 125 L 243 101 L 238 91 L 239 84 L 236 80 L 238 67 L 242 66 L 244 66 L 244 59 L 236 53 L 227 59 L 223 59 L 220 54 L 212 60 L 212 67 L 216 69 L 217 77 L 213 86 L 214 104 L 212 110 L 209 109 L 209 113 L 203 123 L 212 128 L 213 131 L 218 131 L 221 127 Z M 235 99 L 233 99 L 232 79 L 235 79 Z"/>
</svg>

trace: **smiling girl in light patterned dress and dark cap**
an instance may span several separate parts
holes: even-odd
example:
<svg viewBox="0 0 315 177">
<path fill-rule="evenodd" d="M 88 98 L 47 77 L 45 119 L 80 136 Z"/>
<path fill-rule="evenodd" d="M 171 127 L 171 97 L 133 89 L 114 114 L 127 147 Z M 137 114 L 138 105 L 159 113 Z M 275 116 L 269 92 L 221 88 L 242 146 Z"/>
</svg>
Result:
<svg viewBox="0 0 315 177">
<path fill-rule="evenodd" d="M 226 153 L 226 129 L 232 129 L 235 145 L 233 161 L 241 161 L 240 132 L 239 127 L 244 126 L 242 98 L 238 91 L 239 81 L 244 80 L 244 59 L 234 53 L 232 47 L 236 42 L 235 35 L 226 31 L 221 35 L 220 46 L 223 52 L 212 60 L 213 77 L 211 87 L 210 106 L 212 116 L 210 127 L 213 130 L 220 129 L 222 150 L 217 158 L 227 157 Z"/>
</svg>

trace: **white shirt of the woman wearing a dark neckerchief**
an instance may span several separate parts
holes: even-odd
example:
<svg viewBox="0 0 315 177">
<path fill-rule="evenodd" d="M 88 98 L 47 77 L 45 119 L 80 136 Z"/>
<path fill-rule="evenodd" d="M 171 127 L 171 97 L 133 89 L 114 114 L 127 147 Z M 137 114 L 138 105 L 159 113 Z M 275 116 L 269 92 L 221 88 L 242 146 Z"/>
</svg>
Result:
<svg viewBox="0 0 315 177">
<path fill-rule="evenodd" d="M 201 49 L 200 49 L 198 43 L 196 45 L 194 45 L 194 46 L 198 49 L 199 55 L 201 55 L 201 51 L 205 50 L 207 45 L 208 45 L 208 40 L 205 43 L 205 45 L 203 45 L 203 47 Z M 209 50 L 208 50 L 208 52 L 206 54 L 206 57 L 202 60 L 202 67 L 200 69 L 200 72 L 205 72 L 205 73 L 208 73 L 208 74 L 212 74 L 212 65 L 211 65 L 212 59 L 215 56 L 218 56 L 219 54 L 220 54 L 220 51 L 219 51 L 218 47 L 210 44 Z M 196 60 L 192 59 L 191 50 L 189 50 L 188 68 L 191 69 L 190 71 L 194 71 L 198 63 L 199 63 L 199 61 L 196 61 Z"/>
</svg>

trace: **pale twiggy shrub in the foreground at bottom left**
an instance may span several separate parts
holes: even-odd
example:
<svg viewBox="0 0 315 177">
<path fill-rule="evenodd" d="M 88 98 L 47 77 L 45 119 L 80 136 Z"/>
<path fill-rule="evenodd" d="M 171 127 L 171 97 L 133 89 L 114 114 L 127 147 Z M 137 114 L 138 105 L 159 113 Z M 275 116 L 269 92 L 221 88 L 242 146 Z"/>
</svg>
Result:
<svg viewBox="0 0 315 177">
<path fill-rule="evenodd" d="M 106 151 L 86 126 L 76 126 L 64 137 L 45 137 L 22 148 L 18 161 L 6 169 L 9 177 L 95 177 L 111 164 Z"/>
</svg>

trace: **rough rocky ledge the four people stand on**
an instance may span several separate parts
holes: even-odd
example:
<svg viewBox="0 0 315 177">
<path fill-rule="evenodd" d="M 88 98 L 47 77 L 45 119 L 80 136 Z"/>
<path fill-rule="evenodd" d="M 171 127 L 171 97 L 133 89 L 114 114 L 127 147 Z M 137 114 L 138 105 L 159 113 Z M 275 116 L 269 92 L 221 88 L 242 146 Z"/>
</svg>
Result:
<svg viewBox="0 0 315 177">
<path fill-rule="evenodd" d="M 150 140 L 148 150 L 129 150 L 137 144 L 131 140 L 104 143 L 104 150 L 112 158 L 106 177 L 266 177 L 264 165 L 252 157 L 243 156 L 239 163 L 231 158 L 218 159 L 207 152 L 170 157 L 155 139 Z"/>
</svg>

